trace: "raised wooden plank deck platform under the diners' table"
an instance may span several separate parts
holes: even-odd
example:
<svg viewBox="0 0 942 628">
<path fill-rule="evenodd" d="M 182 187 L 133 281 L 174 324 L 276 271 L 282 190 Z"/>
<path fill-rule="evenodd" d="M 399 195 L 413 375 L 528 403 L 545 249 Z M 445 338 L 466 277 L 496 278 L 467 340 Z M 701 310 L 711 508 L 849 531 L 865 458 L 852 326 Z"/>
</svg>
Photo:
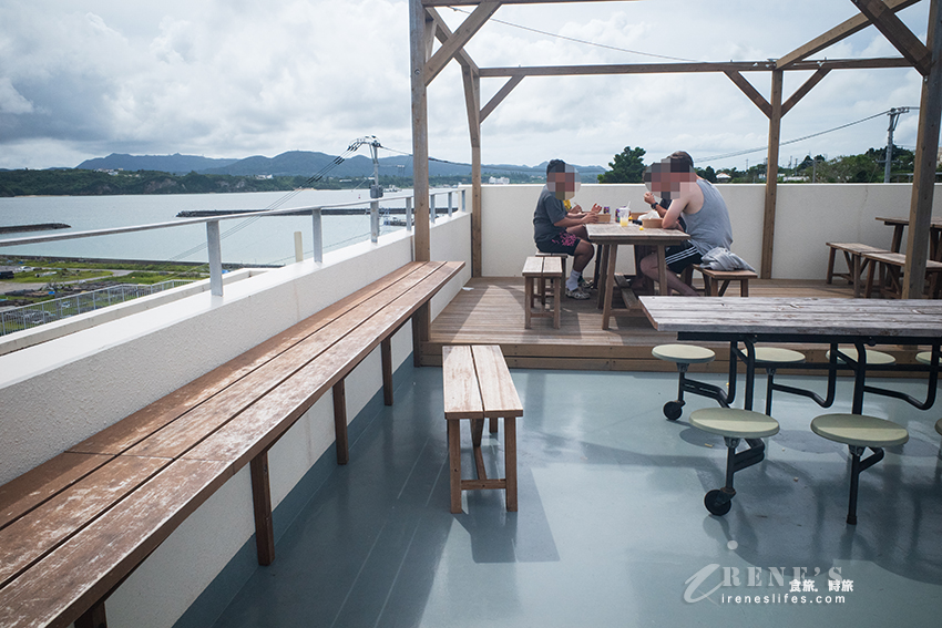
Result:
<svg viewBox="0 0 942 628">
<path fill-rule="evenodd" d="M 697 282 L 698 285 L 698 282 Z M 750 297 L 853 298 L 852 286 L 836 281 L 757 279 L 750 282 Z M 736 291 L 730 291 L 736 292 Z M 500 344 L 508 364 L 529 369 L 578 369 L 598 371 L 675 371 L 674 364 L 653 358 L 657 344 L 675 342 L 676 333 L 657 332 L 639 309 L 615 309 L 607 331 L 602 330 L 602 310 L 593 299 L 563 298 L 562 323 L 553 329 L 546 320 L 523 328 L 523 278 L 471 279 L 462 291 L 436 318 L 423 364 L 440 366 L 441 348 L 447 344 Z M 717 297 L 705 297 L 717 298 Z M 727 294 L 724 299 L 740 298 Z M 617 306 L 622 306 L 621 298 Z M 698 370 L 725 372 L 728 347 L 710 346 L 717 360 Z M 827 347 L 795 346 L 809 361 L 823 362 Z M 913 362 L 911 347 L 881 347 L 902 363 Z M 820 374 L 821 371 L 813 371 Z"/>
</svg>

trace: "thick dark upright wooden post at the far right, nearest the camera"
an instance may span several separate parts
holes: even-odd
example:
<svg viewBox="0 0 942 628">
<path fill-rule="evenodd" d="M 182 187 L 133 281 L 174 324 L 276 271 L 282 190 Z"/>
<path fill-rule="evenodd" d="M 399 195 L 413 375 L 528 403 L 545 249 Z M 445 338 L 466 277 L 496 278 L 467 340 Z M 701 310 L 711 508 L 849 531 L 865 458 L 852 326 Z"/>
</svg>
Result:
<svg viewBox="0 0 942 628">
<path fill-rule="evenodd" d="M 929 224 L 935 192 L 935 163 L 942 120 L 942 9 L 933 0 L 929 9 L 928 42 L 932 53 L 930 72 L 922 81 L 919 105 L 919 137 L 913 164 L 912 198 L 907 233 L 907 265 L 903 269 L 903 298 L 919 299 L 925 282 L 929 256 Z"/>
</svg>

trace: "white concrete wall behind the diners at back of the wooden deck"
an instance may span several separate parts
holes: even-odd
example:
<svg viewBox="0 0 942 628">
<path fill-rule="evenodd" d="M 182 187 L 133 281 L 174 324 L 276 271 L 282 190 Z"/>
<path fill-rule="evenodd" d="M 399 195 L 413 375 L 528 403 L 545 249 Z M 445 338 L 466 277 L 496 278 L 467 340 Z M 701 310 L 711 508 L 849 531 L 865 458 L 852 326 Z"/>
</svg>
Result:
<svg viewBox="0 0 942 628">
<path fill-rule="evenodd" d="M 733 251 L 756 269 L 761 264 L 764 185 L 718 186 L 733 222 Z M 482 191 L 482 240 L 485 277 L 519 277 L 533 255 L 533 209 L 540 185 L 489 185 Z M 583 185 L 575 202 L 644 210 L 642 184 Z M 823 279 L 827 241 L 858 241 L 889 247 L 892 228 L 878 216 L 909 216 L 908 184 L 787 184 L 778 186 L 772 278 Z M 942 216 L 942 185 L 936 185 L 933 215 Z M 525 236 L 525 237 L 524 237 Z M 625 248 L 625 247 L 623 247 Z M 904 248 L 905 249 L 905 248 Z M 622 253 L 618 268 L 633 271 L 632 255 Z"/>
</svg>

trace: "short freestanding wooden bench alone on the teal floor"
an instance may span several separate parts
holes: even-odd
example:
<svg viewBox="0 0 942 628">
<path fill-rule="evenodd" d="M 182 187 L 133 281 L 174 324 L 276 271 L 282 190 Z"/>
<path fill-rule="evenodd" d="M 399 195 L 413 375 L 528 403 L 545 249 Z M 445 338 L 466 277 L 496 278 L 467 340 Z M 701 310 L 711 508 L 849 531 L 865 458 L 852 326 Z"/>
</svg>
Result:
<svg viewBox="0 0 942 628">
<path fill-rule="evenodd" d="M 457 346 L 442 348 L 444 419 L 448 423 L 449 480 L 451 512 L 460 513 L 461 492 L 504 490 L 506 509 L 516 511 L 516 418 L 523 405 L 498 346 Z M 461 478 L 461 420 L 471 424 L 471 446 L 477 480 Z M 484 419 L 490 431 L 498 431 L 498 419 L 504 420 L 504 475 L 489 478 L 481 453 Z"/>
</svg>

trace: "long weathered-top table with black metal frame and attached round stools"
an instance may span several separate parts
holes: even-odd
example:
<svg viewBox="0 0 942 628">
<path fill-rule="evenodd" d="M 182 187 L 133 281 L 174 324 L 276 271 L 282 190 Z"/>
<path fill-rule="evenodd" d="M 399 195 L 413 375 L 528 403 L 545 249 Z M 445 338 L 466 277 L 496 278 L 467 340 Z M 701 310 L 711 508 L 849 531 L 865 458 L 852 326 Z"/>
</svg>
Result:
<svg viewBox="0 0 942 628">
<path fill-rule="evenodd" d="M 903 399 L 922 410 L 932 406 L 942 347 L 942 302 L 925 299 L 704 299 L 699 297 L 642 297 L 642 308 L 657 331 L 677 332 L 682 341 L 729 341 L 729 387 L 731 401 L 736 389 L 736 360 L 746 363 L 745 408 L 752 408 L 755 343 L 798 342 L 831 346 L 831 360 L 820 366 L 829 371 L 829 389 L 839 368 L 854 373 L 853 413 L 862 413 L 863 393 L 872 392 Z M 739 350 L 739 344 L 746 351 Z M 840 352 L 840 344 L 853 344 L 857 358 Z M 880 370 L 929 371 L 929 392 L 918 401 L 897 391 L 868 387 L 866 348 L 873 344 L 914 344 L 932 347 L 928 367 L 895 364 Z M 815 364 L 803 363 L 802 368 Z M 809 395 L 810 397 L 810 395 Z M 829 395 L 830 397 L 830 395 Z"/>
</svg>

